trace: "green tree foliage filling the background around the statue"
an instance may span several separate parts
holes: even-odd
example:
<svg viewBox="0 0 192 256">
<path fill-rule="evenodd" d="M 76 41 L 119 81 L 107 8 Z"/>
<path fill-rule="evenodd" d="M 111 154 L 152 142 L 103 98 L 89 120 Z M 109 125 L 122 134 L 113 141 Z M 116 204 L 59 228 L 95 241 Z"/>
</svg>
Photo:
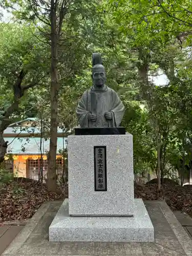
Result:
<svg viewBox="0 0 192 256">
<path fill-rule="evenodd" d="M 19 24 L 1 24 L 2 112 L 13 100 L 16 75 L 25 69 L 25 83 L 33 78 L 40 82 L 25 94 L 14 117 L 36 116 L 49 130 L 50 24 L 49 12 L 40 9 L 49 2 L 36 6 L 41 20 L 31 12 L 31 1 L 2 3 L 6 9 L 14 3 L 19 6 L 10 9 Z M 75 1 L 74 7 L 63 20 L 58 45 L 59 127 L 69 132 L 77 125 L 75 108 L 92 84 L 91 54 L 98 51 L 108 85 L 125 105 L 122 125 L 133 134 L 135 173 L 158 172 L 159 168 L 161 177 L 175 177 L 175 172 L 181 177 L 192 169 L 189 2 Z M 153 81 L 159 73 L 166 75 L 166 85 Z"/>
</svg>

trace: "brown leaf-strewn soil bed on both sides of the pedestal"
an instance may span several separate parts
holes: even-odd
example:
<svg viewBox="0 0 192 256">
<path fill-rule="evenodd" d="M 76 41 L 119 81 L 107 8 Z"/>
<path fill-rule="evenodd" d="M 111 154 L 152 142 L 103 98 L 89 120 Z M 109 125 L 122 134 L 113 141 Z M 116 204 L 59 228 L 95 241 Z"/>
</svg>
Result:
<svg viewBox="0 0 192 256">
<path fill-rule="evenodd" d="M 57 193 L 49 193 L 46 185 L 33 180 L 0 184 L 0 224 L 27 220 L 45 201 L 63 200 L 66 197 L 67 188 L 58 187 Z M 180 187 L 166 182 L 158 191 L 156 183 L 135 184 L 135 198 L 165 200 L 172 210 L 183 210 L 192 216 L 192 186 Z"/>
</svg>

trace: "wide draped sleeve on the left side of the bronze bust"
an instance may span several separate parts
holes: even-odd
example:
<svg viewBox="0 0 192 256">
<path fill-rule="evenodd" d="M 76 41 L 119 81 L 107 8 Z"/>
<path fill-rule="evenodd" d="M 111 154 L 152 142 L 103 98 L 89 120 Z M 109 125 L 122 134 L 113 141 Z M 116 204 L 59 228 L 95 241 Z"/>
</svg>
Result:
<svg viewBox="0 0 192 256">
<path fill-rule="evenodd" d="M 83 93 L 76 109 L 77 118 L 81 127 L 88 127 L 89 111 L 87 111 L 87 95 L 88 91 Z"/>
</svg>

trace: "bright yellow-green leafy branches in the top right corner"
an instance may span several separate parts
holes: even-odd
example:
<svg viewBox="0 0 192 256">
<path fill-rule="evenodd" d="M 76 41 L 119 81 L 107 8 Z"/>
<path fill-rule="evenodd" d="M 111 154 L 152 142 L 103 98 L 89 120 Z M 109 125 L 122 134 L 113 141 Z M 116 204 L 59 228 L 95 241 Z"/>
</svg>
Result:
<svg viewBox="0 0 192 256">
<path fill-rule="evenodd" d="M 190 45 L 191 6 L 189 1 L 107 1 L 120 30 L 143 46 L 154 41 L 166 43 L 187 35 Z M 131 26 L 129 26 L 131 25 Z M 135 42 L 134 42 L 135 44 Z"/>
</svg>

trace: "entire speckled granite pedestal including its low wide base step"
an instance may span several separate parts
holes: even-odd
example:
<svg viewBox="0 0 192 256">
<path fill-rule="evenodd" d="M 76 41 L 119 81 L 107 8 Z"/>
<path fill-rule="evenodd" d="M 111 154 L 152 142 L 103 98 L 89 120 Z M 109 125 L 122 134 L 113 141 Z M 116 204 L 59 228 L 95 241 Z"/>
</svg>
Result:
<svg viewBox="0 0 192 256">
<path fill-rule="evenodd" d="M 68 170 L 69 200 L 49 227 L 50 241 L 154 241 L 143 201 L 134 199 L 131 134 L 69 136 Z"/>
</svg>

